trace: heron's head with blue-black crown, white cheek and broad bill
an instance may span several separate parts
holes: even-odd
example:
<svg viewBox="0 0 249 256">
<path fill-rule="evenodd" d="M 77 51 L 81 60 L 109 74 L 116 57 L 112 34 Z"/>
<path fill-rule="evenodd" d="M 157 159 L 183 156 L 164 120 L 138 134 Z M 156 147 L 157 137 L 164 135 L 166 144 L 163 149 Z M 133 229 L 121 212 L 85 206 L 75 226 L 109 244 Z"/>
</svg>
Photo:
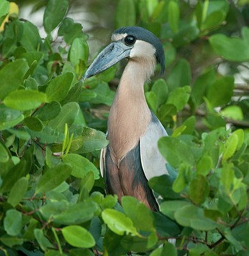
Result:
<svg viewBox="0 0 249 256">
<path fill-rule="evenodd" d="M 119 28 L 112 34 L 112 43 L 96 57 L 84 74 L 84 79 L 99 74 L 117 62 L 131 60 L 151 61 L 161 65 L 164 72 L 164 52 L 160 40 L 150 31 L 140 27 Z"/>
</svg>

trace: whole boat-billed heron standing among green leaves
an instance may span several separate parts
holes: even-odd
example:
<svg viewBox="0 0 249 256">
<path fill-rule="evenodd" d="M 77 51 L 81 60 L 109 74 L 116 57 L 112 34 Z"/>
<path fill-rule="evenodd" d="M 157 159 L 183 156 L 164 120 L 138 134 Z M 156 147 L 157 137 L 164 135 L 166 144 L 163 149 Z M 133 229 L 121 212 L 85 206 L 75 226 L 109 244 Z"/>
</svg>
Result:
<svg viewBox="0 0 249 256">
<path fill-rule="evenodd" d="M 114 102 L 110 108 L 109 145 L 100 156 L 100 170 L 107 193 L 134 196 L 152 210 L 158 204 L 147 180 L 167 174 L 158 139 L 167 136 L 149 109 L 144 83 L 154 74 L 156 63 L 164 71 L 163 46 L 150 31 L 140 27 L 119 28 L 110 43 L 87 69 L 84 79 L 128 58 Z"/>
</svg>

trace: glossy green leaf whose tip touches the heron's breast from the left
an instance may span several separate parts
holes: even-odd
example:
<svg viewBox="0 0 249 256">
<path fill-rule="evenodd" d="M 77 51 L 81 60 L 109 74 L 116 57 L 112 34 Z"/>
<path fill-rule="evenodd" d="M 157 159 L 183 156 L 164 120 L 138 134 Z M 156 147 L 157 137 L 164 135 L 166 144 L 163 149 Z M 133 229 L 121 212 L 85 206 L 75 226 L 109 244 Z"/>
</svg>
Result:
<svg viewBox="0 0 249 256">
<path fill-rule="evenodd" d="M 80 138 L 75 138 L 72 141 L 72 147 L 78 147 L 77 153 L 88 153 L 105 148 L 108 143 L 109 141 L 103 132 L 84 127 Z"/>
</svg>

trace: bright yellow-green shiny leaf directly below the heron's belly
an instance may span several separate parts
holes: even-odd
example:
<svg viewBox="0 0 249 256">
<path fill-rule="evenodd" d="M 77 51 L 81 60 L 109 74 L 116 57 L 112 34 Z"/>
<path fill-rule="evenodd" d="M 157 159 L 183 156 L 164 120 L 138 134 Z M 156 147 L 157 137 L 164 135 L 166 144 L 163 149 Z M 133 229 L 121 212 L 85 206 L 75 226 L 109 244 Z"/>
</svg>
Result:
<svg viewBox="0 0 249 256">
<path fill-rule="evenodd" d="M 132 220 L 126 217 L 122 212 L 118 212 L 114 209 L 105 209 L 102 211 L 102 219 L 110 230 L 120 236 L 124 234 L 137 236 L 137 230 L 133 226 Z"/>
</svg>

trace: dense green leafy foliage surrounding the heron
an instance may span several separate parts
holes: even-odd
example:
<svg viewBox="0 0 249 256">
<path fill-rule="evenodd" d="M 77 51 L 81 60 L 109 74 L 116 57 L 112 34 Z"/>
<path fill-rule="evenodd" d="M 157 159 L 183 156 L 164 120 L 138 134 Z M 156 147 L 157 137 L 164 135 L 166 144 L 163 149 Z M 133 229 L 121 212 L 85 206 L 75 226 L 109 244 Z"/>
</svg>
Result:
<svg viewBox="0 0 249 256">
<path fill-rule="evenodd" d="M 0 255 L 248 255 L 248 1 L 31 3 L 42 28 L 0 0 Z M 165 49 L 165 75 L 144 87 L 170 134 L 170 175 L 149 180 L 160 213 L 129 196 L 121 207 L 100 177 L 123 65 L 81 80 L 130 25 Z"/>
</svg>

